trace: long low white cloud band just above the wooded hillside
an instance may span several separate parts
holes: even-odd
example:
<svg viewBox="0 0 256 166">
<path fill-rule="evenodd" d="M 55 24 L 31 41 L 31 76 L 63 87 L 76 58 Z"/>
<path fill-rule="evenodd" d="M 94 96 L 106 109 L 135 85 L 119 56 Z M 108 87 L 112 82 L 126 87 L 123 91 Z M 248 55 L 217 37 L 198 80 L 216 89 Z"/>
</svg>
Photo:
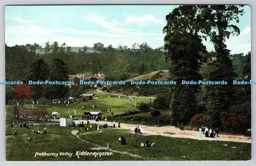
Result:
<svg viewBox="0 0 256 166">
<path fill-rule="evenodd" d="M 67 27 L 65 29 L 46 29 L 36 24 L 32 24 L 33 21 L 23 20 L 19 21 L 19 25 L 6 25 L 5 39 L 6 43 L 12 45 L 25 45 L 28 43 L 38 43 L 44 45 L 46 42 L 53 43 L 67 43 L 70 46 L 93 46 L 93 43 L 101 42 L 105 46 L 112 44 L 114 47 L 118 47 L 119 43 L 123 43 L 131 47 L 134 43 L 147 42 L 152 47 L 159 47 L 162 43 L 154 43 L 151 36 L 159 36 L 162 34 L 143 34 L 135 31 L 115 31 L 111 29 L 107 32 L 97 31 L 77 31 L 73 27 Z M 113 24 L 115 24 L 114 22 Z M 104 22 L 105 25 L 111 27 Z M 126 32 L 126 34 L 123 34 Z M 82 35 L 79 37 L 67 36 L 67 33 Z M 88 36 L 92 35 L 92 36 Z"/>
</svg>

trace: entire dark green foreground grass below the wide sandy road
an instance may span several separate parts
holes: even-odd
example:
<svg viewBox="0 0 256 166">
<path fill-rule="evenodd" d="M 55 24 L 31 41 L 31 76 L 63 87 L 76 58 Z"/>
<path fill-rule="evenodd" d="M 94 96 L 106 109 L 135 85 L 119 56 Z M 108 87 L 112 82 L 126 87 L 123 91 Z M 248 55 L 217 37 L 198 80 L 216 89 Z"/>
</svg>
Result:
<svg viewBox="0 0 256 166">
<path fill-rule="evenodd" d="M 33 128 L 43 129 L 44 125 L 33 126 Z M 32 128 L 32 129 L 33 129 Z M 110 143 L 111 149 L 137 154 L 146 160 L 250 160 L 251 144 L 219 142 L 219 141 L 199 141 L 191 139 L 180 139 L 165 136 L 143 136 L 135 135 L 127 130 L 106 128 L 102 132 L 92 129 L 82 128 L 78 136 L 80 139 L 90 143 L 106 147 Z M 102 127 L 101 127 L 102 128 Z M 32 129 L 7 127 L 9 131 L 17 131 L 17 136 L 6 136 L 6 159 L 7 160 L 143 160 L 127 154 L 114 153 L 112 156 L 35 156 L 36 152 L 71 152 L 88 151 L 104 152 L 107 150 L 91 150 L 95 146 L 78 140 L 71 134 L 73 127 L 59 127 L 58 125 L 47 126 L 48 134 L 34 134 Z M 27 136 L 31 141 L 26 140 Z M 123 135 L 127 145 L 118 144 L 119 137 Z M 141 147 L 140 142 L 146 140 L 156 143 L 154 147 Z M 133 143 L 138 146 L 134 147 Z M 224 146 L 227 144 L 227 146 Z M 232 147 L 236 147 L 232 149 Z"/>
</svg>

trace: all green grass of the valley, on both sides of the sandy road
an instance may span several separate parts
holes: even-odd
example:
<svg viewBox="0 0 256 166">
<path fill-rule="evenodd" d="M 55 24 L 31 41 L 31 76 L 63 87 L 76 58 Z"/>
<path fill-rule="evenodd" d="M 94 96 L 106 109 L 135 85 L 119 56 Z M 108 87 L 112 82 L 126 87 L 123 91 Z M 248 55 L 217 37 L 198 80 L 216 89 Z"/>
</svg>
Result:
<svg viewBox="0 0 256 166">
<path fill-rule="evenodd" d="M 87 102 L 78 102 L 69 104 L 55 104 L 52 107 L 47 108 L 48 112 L 59 112 L 60 117 L 67 115 L 74 115 L 76 110 L 76 117 L 80 118 L 83 112 L 99 112 L 102 109 L 108 109 L 108 113 L 103 113 L 104 116 L 110 115 L 109 109 L 117 114 L 123 114 L 126 110 L 137 110 L 134 106 L 135 102 L 148 102 L 148 98 L 134 98 L 134 101 L 129 103 L 131 99 L 127 97 L 120 97 L 116 95 L 104 94 L 102 92 L 95 92 L 95 100 Z M 81 109 L 86 105 L 86 110 Z M 92 109 L 91 105 L 95 105 L 96 108 Z M 27 105 L 29 106 L 29 105 Z M 102 128 L 100 131 L 95 130 L 95 125 L 92 128 L 89 125 L 85 125 L 78 132 L 80 139 L 90 142 L 86 143 L 79 140 L 76 136 L 71 134 L 72 130 L 78 130 L 78 127 L 60 127 L 58 124 L 49 125 L 46 122 L 37 122 L 31 129 L 20 128 L 17 126 L 18 122 L 14 121 L 15 126 L 12 128 L 10 122 L 13 121 L 11 117 L 11 106 L 6 106 L 6 130 L 9 132 L 17 131 L 17 136 L 6 136 L 6 159 L 16 161 L 30 161 L 30 160 L 250 160 L 251 159 L 251 144 L 248 143 L 236 143 L 236 142 L 223 142 L 223 141 L 203 141 L 182 139 L 175 137 L 166 137 L 160 135 L 148 135 L 133 134 L 129 130 L 117 129 L 117 128 Z M 61 108 L 65 111 L 60 112 Z M 164 113 L 170 115 L 170 113 Z M 126 117 L 150 117 L 149 113 L 139 113 L 137 115 L 131 115 Z M 127 121 L 131 122 L 131 121 Z M 58 123 L 58 122 L 50 122 Z M 41 125 L 40 125 L 41 124 Z M 35 128 L 47 127 L 48 134 L 35 134 L 32 132 Z M 86 128 L 89 130 L 86 130 Z M 121 146 L 118 144 L 118 139 L 121 136 L 126 139 L 127 145 Z M 31 141 L 27 140 L 27 136 L 30 136 Z M 141 142 L 154 142 L 154 147 L 141 147 Z M 36 152 L 71 152 L 73 154 L 76 151 L 89 151 L 89 152 L 105 152 L 108 150 L 97 149 L 98 146 L 106 147 L 106 144 L 110 143 L 111 149 L 119 151 L 121 153 L 114 153 L 112 156 L 36 156 Z M 136 144 L 136 146 L 135 146 Z M 95 146 L 97 145 L 97 146 Z M 235 148 L 233 148 L 235 147 Z M 96 148 L 96 150 L 95 150 Z M 191 153 L 193 152 L 193 153 Z M 129 155 L 125 153 L 134 154 Z M 143 158 L 136 157 L 136 155 Z"/>
</svg>

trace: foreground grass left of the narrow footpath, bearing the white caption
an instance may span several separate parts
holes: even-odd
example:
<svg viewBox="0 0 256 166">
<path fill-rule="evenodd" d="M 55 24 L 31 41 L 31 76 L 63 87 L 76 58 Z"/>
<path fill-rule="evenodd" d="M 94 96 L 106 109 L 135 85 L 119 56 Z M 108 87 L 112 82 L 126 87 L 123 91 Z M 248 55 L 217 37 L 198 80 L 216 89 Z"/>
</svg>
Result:
<svg viewBox="0 0 256 166">
<path fill-rule="evenodd" d="M 34 128 L 44 129 L 44 126 L 34 126 Z M 59 160 L 141 160 L 140 158 L 126 156 L 124 154 L 116 153 L 113 156 L 36 156 L 36 152 L 59 153 L 76 151 L 90 151 L 90 152 L 105 152 L 106 150 L 90 150 L 92 145 L 79 141 L 71 134 L 72 127 L 59 127 L 58 125 L 47 126 L 48 134 L 35 134 L 32 129 L 8 127 L 9 131 L 17 131 L 17 136 L 6 136 L 6 160 L 11 161 L 59 161 Z M 27 140 L 30 136 L 31 141 Z"/>
</svg>

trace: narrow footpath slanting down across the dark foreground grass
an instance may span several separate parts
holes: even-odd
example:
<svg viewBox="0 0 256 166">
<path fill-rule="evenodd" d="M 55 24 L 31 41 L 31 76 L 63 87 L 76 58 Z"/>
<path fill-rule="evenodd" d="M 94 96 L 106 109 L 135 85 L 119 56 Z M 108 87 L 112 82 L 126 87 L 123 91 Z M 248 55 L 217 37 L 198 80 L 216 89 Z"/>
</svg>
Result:
<svg viewBox="0 0 256 166">
<path fill-rule="evenodd" d="M 117 150 L 113 150 L 113 149 L 108 149 L 107 147 L 102 147 L 102 146 L 99 146 L 97 144 L 93 144 L 93 143 L 90 143 L 88 141 L 84 141 L 84 140 L 80 139 L 80 137 L 77 135 L 78 132 L 79 132 L 78 130 L 72 130 L 71 134 L 76 136 L 78 140 L 80 140 L 82 142 L 86 142 L 88 144 L 91 144 L 91 145 L 97 147 L 97 148 L 92 148 L 92 150 L 109 150 L 109 151 L 114 152 L 114 153 L 126 154 L 126 155 L 130 155 L 132 157 L 138 157 L 138 158 L 141 158 L 141 159 L 144 159 L 144 160 L 148 160 L 145 157 L 142 157 L 142 156 L 137 155 L 137 154 L 133 154 L 133 153 L 129 153 L 129 152 L 121 152 L 121 151 L 117 151 Z"/>
</svg>

